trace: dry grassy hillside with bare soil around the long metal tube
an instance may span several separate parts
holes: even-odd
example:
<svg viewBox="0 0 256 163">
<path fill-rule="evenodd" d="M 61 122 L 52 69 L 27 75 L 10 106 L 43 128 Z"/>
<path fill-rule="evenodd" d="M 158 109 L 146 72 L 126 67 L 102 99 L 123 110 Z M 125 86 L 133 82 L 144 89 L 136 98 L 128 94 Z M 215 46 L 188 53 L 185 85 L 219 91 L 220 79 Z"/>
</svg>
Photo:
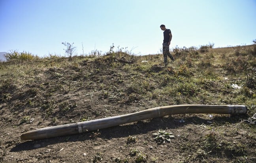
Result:
<svg viewBox="0 0 256 163">
<path fill-rule="evenodd" d="M 256 162 L 256 120 L 250 118 L 256 113 L 256 45 L 176 48 L 168 66 L 162 54 L 94 54 L 70 61 L 12 51 L 0 62 L 0 162 Z M 19 138 L 37 128 L 177 104 L 242 104 L 249 111 L 170 115 L 79 135 Z M 175 137 L 157 143 L 152 134 L 158 130 Z"/>
</svg>

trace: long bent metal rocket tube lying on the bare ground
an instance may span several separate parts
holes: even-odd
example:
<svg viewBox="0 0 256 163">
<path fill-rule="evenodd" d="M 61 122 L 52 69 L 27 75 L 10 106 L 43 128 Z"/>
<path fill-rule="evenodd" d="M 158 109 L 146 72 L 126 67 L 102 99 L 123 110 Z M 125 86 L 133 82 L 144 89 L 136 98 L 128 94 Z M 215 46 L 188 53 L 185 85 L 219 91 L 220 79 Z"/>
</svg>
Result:
<svg viewBox="0 0 256 163">
<path fill-rule="evenodd" d="M 164 117 L 175 114 L 246 114 L 244 105 L 173 105 L 142 110 L 140 112 L 95 119 L 90 121 L 51 126 L 21 134 L 22 140 L 46 139 L 57 136 L 80 134 L 83 132 L 118 126 L 126 123 Z"/>
</svg>

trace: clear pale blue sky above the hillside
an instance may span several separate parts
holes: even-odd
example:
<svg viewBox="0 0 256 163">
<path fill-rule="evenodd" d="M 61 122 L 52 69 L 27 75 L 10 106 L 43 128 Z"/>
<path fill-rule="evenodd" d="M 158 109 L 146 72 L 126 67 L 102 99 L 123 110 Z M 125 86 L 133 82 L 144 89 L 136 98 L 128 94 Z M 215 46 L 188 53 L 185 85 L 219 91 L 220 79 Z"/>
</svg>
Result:
<svg viewBox="0 0 256 163">
<path fill-rule="evenodd" d="M 256 0 L 0 0 L 0 51 L 64 55 L 61 42 L 74 42 L 80 55 L 83 42 L 85 54 L 112 43 L 156 54 L 161 24 L 172 31 L 170 48 L 253 44 Z"/>
</svg>

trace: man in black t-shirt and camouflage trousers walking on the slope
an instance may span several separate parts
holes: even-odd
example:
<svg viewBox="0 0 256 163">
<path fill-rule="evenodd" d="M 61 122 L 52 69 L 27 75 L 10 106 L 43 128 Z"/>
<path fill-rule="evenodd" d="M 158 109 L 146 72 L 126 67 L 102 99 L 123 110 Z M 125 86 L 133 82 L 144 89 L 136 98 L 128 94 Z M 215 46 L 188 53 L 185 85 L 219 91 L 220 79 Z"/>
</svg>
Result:
<svg viewBox="0 0 256 163">
<path fill-rule="evenodd" d="M 167 66 L 168 64 L 167 56 L 170 57 L 172 61 L 174 61 L 174 58 L 169 51 L 169 45 L 171 44 L 172 35 L 171 35 L 171 30 L 166 29 L 164 24 L 162 24 L 160 28 L 162 29 L 162 31 L 164 31 L 163 55 L 164 55 L 164 64 Z"/>
</svg>

